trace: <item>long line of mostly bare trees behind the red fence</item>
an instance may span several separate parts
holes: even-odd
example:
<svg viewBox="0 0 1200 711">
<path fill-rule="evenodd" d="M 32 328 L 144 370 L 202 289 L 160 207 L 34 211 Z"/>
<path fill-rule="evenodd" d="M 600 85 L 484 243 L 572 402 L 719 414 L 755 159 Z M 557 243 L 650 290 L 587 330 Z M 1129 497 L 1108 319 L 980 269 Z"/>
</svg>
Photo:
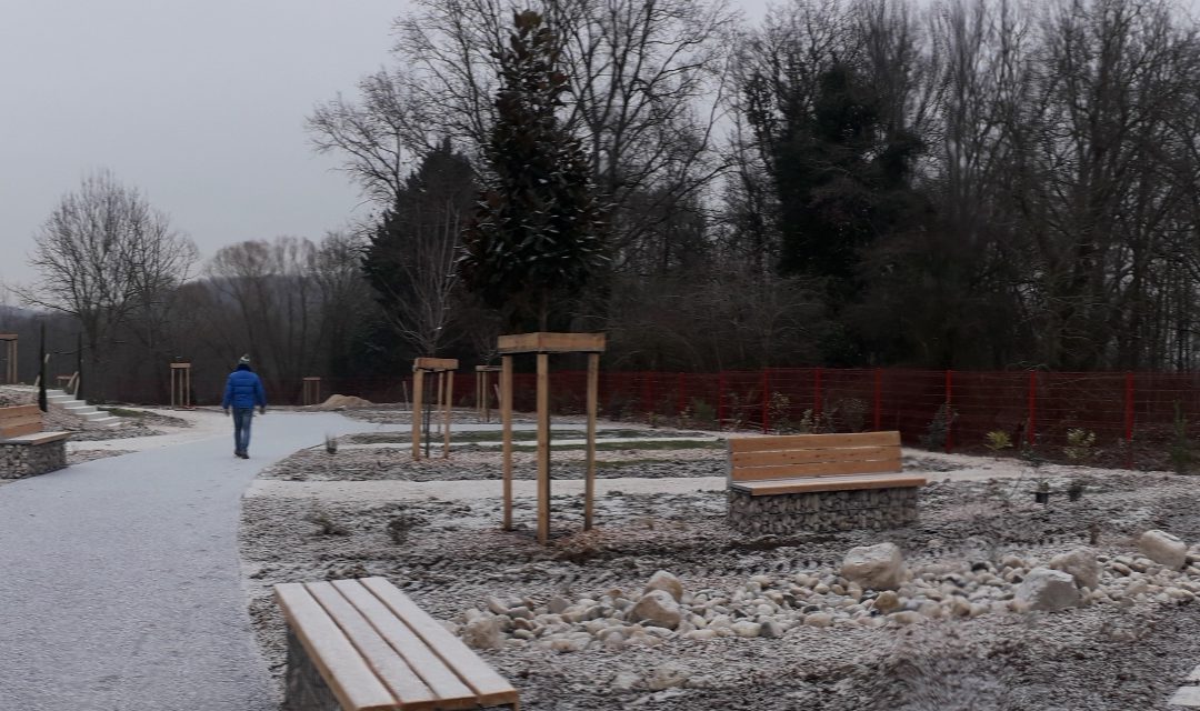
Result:
<svg viewBox="0 0 1200 711">
<path fill-rule="evenodd" d="M 281 386 L 485 362 L 499 332 L 539 327 L 457 269 L 524 8 L 418 1 L 395 65 L 308 116 L 373 218 L 204 265 L 180 242 L 186 264 L 102 307 L 47 293 L 40 248 L 26 303 L 98 335 L 113 382 L 176 355 L 250 351 Z M 606 367 L 1196 366 L 1200 36 L 1177 6 L 796 0 L 752 25 L 715 0 L 533 8 L 607 253 L 548 327 L 607 331 Z"/>
</svg>

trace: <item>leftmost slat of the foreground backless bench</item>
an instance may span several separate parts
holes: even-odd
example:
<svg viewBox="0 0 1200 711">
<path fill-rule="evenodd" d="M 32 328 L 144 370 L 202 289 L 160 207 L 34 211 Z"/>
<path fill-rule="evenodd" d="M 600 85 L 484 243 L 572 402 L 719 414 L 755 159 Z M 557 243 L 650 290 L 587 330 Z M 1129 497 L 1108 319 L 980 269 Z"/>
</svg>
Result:
<svg viewBox="0 0 1200 711">
<path fill-rule="evenodd" d="M 275 598 L 344 711 L 391 711 L 396 707 L 396 697 L 302 583 L 276 585 Z"/>
</svg>

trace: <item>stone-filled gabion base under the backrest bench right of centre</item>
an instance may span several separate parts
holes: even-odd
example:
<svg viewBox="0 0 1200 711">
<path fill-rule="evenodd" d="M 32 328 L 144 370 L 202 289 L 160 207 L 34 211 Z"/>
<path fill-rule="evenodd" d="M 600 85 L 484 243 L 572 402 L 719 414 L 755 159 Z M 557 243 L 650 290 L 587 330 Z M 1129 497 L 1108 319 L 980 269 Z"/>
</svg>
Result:
<svg viewBox="0 0 1200 711">
<path fill-rule="evenodd" d="M 892 529 L 917 520 L 917 487 L 751 496 L 730 489 L 728 522 L 744 534 Z"/>
</svg>

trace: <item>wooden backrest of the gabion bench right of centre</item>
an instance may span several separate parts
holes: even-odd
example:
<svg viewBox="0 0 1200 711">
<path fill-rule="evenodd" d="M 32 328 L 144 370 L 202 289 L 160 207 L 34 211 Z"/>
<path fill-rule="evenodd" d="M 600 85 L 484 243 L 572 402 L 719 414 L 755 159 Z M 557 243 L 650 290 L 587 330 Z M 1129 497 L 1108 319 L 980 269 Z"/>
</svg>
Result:
<svg viewBox="0 0 1200 711">
<path fill-rule="evenodd" d="M 727 440 L 730 481 L 900 471 L 900 433 L 797 434 Z"/>
</svg>

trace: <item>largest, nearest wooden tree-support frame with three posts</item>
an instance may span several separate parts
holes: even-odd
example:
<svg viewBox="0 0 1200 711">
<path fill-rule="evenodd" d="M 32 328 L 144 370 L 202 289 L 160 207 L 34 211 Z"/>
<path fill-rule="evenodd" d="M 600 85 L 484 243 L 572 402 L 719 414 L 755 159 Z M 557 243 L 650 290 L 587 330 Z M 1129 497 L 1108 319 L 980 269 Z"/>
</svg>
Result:
<svg viewBox="0 0 1200 711">
<path fill-rule="evenodd" d="M 518 333 L 500 336 L 500 422 L 504 433 L 504 530 L 512 529 L 512 356 L 535 354 L 538 358 L 538 542 L 550 541 L 550 355 L 588 354 L 587 472 L 583 488 L 583 530 L 593 525 L 595 499 L 596 409 L 600 354 L 604 333 Z"/>
</svg>

